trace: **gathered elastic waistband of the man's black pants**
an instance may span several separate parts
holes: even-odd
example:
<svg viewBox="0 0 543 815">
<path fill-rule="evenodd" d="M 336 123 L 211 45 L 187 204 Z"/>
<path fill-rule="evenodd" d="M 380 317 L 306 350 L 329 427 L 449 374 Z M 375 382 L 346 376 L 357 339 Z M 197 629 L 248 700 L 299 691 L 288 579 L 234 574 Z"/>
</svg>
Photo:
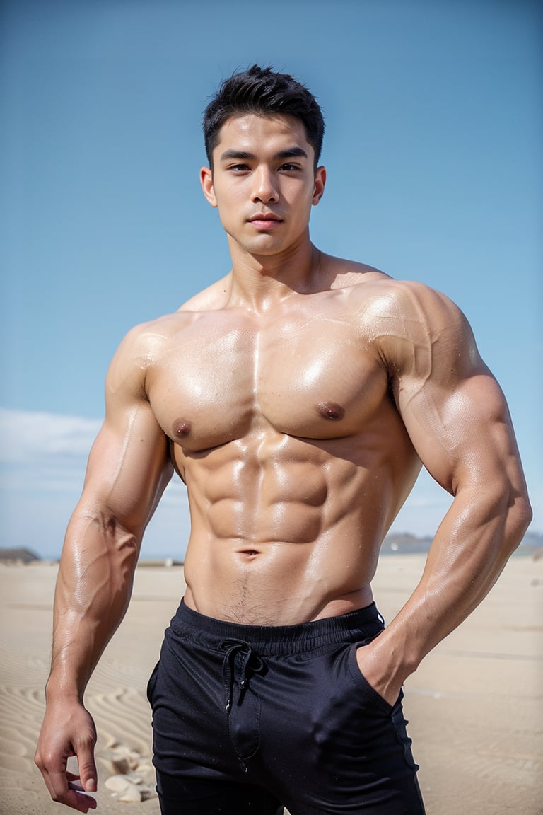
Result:
<svg viewBox="0 0 543 815">
<path fill-rule="evenodd" d="M 370 626 L 370 631 L 364 631 Z M 353 641 L 358 635 L 361 638 L 375 636 L 379 628 L 383 628 L 383 618 L 373 602 L 363 609 L 349 611 L 348 614 L 337 617 L 323 617 L 310 623 L 280 626 L 244 625 L 206 617 L 181 601 L 171 622 L 171 628 L 178 635 L 190 634 L 198 638 L 208 635 L 219 641 L 247 642 L 252 647 L 258 648 L 261 654 L 287 654 L 335 642 Z"/>
</svg>

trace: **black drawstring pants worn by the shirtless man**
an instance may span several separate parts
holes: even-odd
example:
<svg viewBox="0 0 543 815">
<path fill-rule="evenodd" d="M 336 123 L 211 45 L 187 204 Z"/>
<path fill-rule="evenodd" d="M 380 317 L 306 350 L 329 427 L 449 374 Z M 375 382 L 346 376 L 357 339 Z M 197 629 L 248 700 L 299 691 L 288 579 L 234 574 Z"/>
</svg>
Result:
<svg viewBox="0 0 543 815">
<path fill-rule="evenodd" d="M 163 815 L 423 815 L 402 694 L 357 665 L 382 629 L 374 604 L 268 627 L 182 603 L 147 689 Z"/>
</svg>

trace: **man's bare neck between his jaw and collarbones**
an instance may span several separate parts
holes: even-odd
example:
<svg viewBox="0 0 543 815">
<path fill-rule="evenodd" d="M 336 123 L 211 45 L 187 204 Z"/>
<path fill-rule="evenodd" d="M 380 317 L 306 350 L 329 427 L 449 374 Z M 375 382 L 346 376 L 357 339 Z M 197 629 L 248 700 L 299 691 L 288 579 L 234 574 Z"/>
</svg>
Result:
<svg viewBox="0 0 543 815">
<path fill-rule="evenodd" d="M 252 311 L 267 311 L 292 293 L 320 291 L 322 253 L 306 240 L 277 255 L 256 255 L 230 241 L 230 300 Z"/>
</svg>

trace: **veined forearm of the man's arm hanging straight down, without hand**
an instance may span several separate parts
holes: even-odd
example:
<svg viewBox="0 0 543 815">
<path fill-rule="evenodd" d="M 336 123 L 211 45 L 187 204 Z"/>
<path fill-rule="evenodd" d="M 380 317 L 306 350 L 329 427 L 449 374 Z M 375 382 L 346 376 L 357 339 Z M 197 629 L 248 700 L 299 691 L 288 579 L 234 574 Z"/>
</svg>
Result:
<svg viewBox="0 0 543 815">
<path fill-rule="evenodd" d="M 112 518 L 76 510 L 55 589 L 47 698 L 82 700 L 85 687 L 129 604 L 139 540 Z"/>
</svg>

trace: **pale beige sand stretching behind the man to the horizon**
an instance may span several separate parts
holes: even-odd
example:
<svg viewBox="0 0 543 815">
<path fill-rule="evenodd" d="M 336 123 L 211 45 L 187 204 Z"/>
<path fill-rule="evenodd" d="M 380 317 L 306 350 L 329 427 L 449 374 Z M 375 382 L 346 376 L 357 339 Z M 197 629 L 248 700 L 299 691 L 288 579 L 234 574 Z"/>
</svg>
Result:
<svg viewBox="0 0 543 815">
<path fill-rule="evenodd" d="M 424 557 L 383 557 L 374 593 L 386 619 Z M 68 812 L 33 764 L 44 709 L 56 567 L 0 566 L 0 813 Z M 98 813 L 158 815 L 156 798 L 124 803 L 116 769 L 152 783 L 147 677 L 183 593 L 182 568 L 139 566 L 134 597 L 86 696 L 99 731 Z M 405 713 L 427 815 L 543 813 L 543 560 L 514 557 L 484 603 L 409 677 Z M 120 759 L 120 763 L 119 763 Z M 124 762 L 124 764 L 123 764 Z"/>
</svg>

